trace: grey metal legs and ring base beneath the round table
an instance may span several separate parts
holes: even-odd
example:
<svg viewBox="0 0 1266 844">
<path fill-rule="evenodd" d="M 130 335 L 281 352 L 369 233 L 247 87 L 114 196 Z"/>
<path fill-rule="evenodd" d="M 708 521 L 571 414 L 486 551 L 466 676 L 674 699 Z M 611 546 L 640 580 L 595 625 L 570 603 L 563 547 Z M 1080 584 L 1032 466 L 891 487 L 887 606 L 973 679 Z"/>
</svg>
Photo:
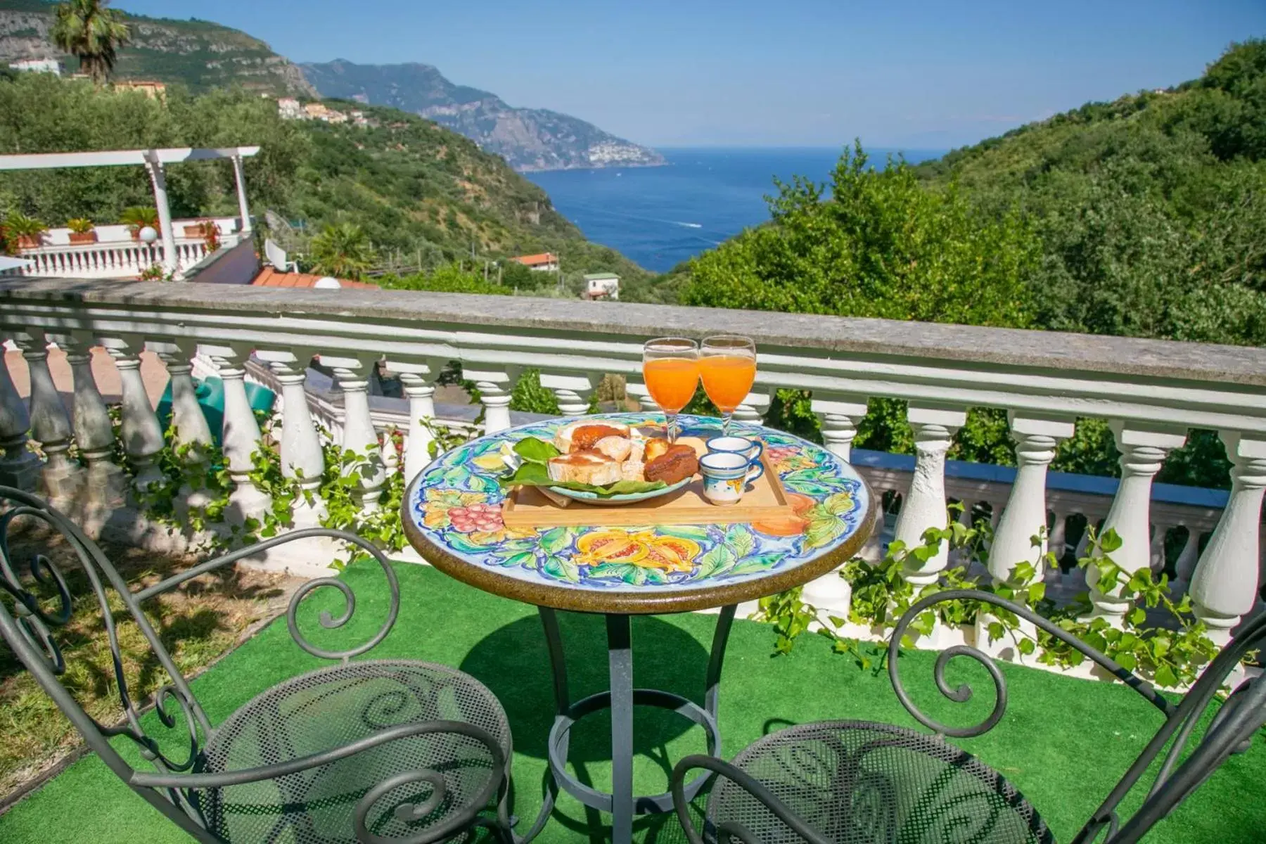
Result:
<svg viewBox="0 0 1266 844">
<path fill-rule="evenodd" d="M 567 664 L 563 655 L 558 616 L 549 607 L 539 607 L 541 621 L 549 645 L 549 663 L 553 668 L 555 700 L 558 710 L 549 730 L 549 772 L 555 782 L 586 806 L 611 814 L 611 834 L 617 844 L 632 840 L 633 815 L 672 811 L 672 795 L 633 793 L 633 707 L 657 706 L 677 712 L 704 728 L 708 753 L 720 752 L 720 733 L 717 729 L 717 700 L 725 644 L 734 621 L 734 605 L 723 607 L 713 634 L 711 653 L 708 659 L 706 692 L 704 705 L 656 688 L 633 688 L 633 648 L 628 615 L 606 615 L 606 658 L 610 668 L 609 692 L 598 692 L 571 702 L 567 691 Z M 580 719 L 599 710 L 611 710 L 611 793 L 584 785 L 567 773 L 567 748 L 571 728 Z M 694 798 L 708 781 L 703 773 L 686 785 L 686 797 Z"/>
</svg>

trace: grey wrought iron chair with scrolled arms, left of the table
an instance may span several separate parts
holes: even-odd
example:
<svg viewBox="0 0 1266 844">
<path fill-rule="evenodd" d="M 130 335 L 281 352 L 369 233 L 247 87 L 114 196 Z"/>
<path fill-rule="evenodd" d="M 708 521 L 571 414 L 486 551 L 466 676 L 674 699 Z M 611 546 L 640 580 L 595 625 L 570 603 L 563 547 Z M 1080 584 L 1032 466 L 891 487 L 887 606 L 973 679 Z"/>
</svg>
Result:
<svg viewBox="0 0 1266 844">
<path fill-rule="evenodd" d="M 400 609 L 395 573 L 368 542 L 338 530 L 296 530 L 132 592 L 101 549 L 65 515 L 8 487 L 0 487 L 0 504 L 8 505 L 0 512 L 0 634 L 5 643 L 106 766 L 196 840 L 423 844 L 477 828 L 514 840 L 506 810 L 510 728 L 492 692 L 446 666 L 353 659 L 386 638 Z M 71 620 L 73 599 L 66 577 L 43 554 L 29 561 L 29 577 L 19 574 L 9 550 L 9 529 L 23 516 L 43 521 L 66 539 L 101 609 L 124 711 L 119 725 L 99 724 L 58 680 L 66 661 L 57 628 Z M 356 597 L 334 577 L 304 583 L 286 611 L 290 634 L 308 653 L 338 664 L 268 688 L 211 726 L 139 605 L 243 557 L 310 537 L 351 543 L 377 561 L 391 593 L 386 620 L 357 647 L 316 647 L 300 633 L 300 602 L 322 587 L 341 591 L 341 615 L 323 611 L 319 620 L 320 626 L 337 629 L 352 619 Z M 162 728 L 187 733 L 187 752 L 186 736 L 165 734 L 154 719 L 147 725 L 128 692 L 108 590 L 122 599 L 171 680 L 154 695 L 154 714 Z M 160 735 L 151 735 L 147 726 Z M 133 769 L 111 747 L 115 736 L 132 739 L 154 771 Z M 171 749 L 173 738 L 179 753 Z M 533 834 L 538 829 L 539 824 Z"/>
</svg>

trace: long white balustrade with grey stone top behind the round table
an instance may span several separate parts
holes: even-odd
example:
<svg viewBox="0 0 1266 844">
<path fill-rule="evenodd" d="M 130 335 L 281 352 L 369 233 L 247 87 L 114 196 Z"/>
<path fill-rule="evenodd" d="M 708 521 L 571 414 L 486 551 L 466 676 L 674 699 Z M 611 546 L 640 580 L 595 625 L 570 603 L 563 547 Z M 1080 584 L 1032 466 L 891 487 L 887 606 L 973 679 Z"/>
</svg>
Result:
<svg viewBox="0 0 1266 844">
<path fill-rule="evenodd" d="M 646 338 L 700 337 L 717 325 L 715 311 L 689 307 L 85 280 L 0 280 L 0 337 L 23 349 L 33 372 L 29 409 L 8 373 L 0 375 L 0 444 L 6 449 L 0 482 L 32 480 L 28 438 L 43 447 L 42 469 L 52 491 L 75 483 L 66 477 L 75 475 L 75 466 L 63 459 L 71 442 L 82 443 L 90 471 L 110 473 L 100 445 L 106 419 L 100 396 L 78 383 L 89 371 L 75 368 L 72 423 L 56 413 L 49 385 L 37 372 L 44 344 L 56 342 L 80 358 L 89 344 L 110 351 L 122 376 L 123 444 L 135 482 L 146 483 L 161 438 L 143 386 L 129 373 L 147 348 L 170 367 L 173 395 L 179 383 L 180 395 L 187 396 L 185 380 L 199 375 L 200 366 L 223 378 L 223 443 L 239 519 L 268 505 L 267 493 L 247 476 L 261 437 L 247 401 L 247 378 L 282 396 L 284 472 L 313 477 L 320 471 L 319 425 L 365 457 L 357 501 L 372 512 L 385 472 L 401 468 L 394 453 L 382 453 L 384 428 L 408 437 L 408 477 L 429 461 L 432 428 L 423 418 L 444 415 L 433 394 L 446 362 L 460 362 L 463 376 L 477 383 L 482 428 L 491 431 L 515 421 L 510 391 L 528 367 L 541 371 L 542 386 L 555 392 L 563 413 L 580 414 L 605 373 L 625 376 L 629 394 L 644 396 L 639 377 Z M 506 304 L 513 307 L 501 307 Z M 860 452 L 855 459 L 877 493 L 900 500 L 891 530 L 906 544 L 920 544 L 928 528 L 944 526 L 952 518 L 947 504 L 962 502 L 960 518 L 987 516 L 994 525 L 987 574 L 1004 581 L 1017 564 L 1038 559 L 1043 549 L 1033 547 L 1033 535 L 1046 529 L 1047 543 L 1067 557 L 1076 544 L 1070 524 L 1089 521 L 1117 530 L 1122 547 L 1113 558 L 1128 571 L 1175 568 L 1217 639 L 1258 602 L 1266 351 L 747 311 L 727 311 L 725 328 L 751 335 L 760 349 L 757 385 L 739 411 L 744 419 L 761 419 L 776 388 L 808 390 L 827 447 L 852 457 L 867 400 L 906 400 L 915 454 Z M 333 372 L 337 390 L 305 390 L 316 380 L 308 367 L 313 356 Z M 371 396 L 379 362 L 403 382 L 404 397 L 390 409 Z M 189 413 L 187 400 L 182 402 Z M 1008 411 L 1018 468 L 946 459 L 972 407 Z M 1122 452 L 1119 482 L 1048 471 L 1057 444 L 1074 435 L 1082 418 L 1109 420 Z M 475 426 L 470 416 L 441 423 Z M 1153 483 L 1191 428 L 1219 431 L 1232 463 L 1229 493 Z M 179 425 L 177 438 L 192 443 L 205 431 Z M 319 516 L 319 501 L 303 506 L 315 509 L 305 521 Z M 1182 540 L 1172 561 L 1165 559 L 1167 539 Z M 906 577 L 931 583 L 948 563 L 948 549 L 942 549 L 912 566 Z M 1056 571 L 1038 576 L 1069 580 Z M 847 611 L 847 585 L 834 574 L 804 593 L 833 614 Z M 1114 623 L 1128 609 L 1119 595 L 1093 592 L 1093 601 L 1095 612 Z"/>
</svg>

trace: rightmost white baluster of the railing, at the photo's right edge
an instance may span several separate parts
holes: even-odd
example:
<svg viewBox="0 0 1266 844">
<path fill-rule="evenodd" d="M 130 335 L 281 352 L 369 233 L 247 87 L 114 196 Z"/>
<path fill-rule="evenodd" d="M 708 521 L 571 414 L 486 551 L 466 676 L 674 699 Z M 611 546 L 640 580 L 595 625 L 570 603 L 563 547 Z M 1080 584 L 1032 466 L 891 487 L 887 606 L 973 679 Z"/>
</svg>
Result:
<svg viewBox="0 0 1266 844">
<path fill-rule="evenodd" d="M 1231 457 L 1231 497 L 1191 576 L 1195 616 L 1218 645 L 1231 640 L 1232 628 L 1257 601 L 1258 531 L 1266 488 L 1266 439 L 1260 437 L 1222 433 Z"/>
</svg>

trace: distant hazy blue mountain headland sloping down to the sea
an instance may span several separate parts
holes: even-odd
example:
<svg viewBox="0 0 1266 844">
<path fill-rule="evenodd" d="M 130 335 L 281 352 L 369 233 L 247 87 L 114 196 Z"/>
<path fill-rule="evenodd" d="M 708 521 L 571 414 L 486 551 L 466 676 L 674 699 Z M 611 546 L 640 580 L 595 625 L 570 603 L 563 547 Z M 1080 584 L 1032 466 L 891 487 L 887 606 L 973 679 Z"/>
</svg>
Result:
<svg viewBox="0 0 1266 844">
<path fill-rule="evenodd" d="M 547 109 L 517 109 L 487 91 L 454 85 L 429 65 L 301 65 L 323 96 L 413 111 L 475 140 L 519 171 L 665 163 L 653 149 Z"/>
</svg>

